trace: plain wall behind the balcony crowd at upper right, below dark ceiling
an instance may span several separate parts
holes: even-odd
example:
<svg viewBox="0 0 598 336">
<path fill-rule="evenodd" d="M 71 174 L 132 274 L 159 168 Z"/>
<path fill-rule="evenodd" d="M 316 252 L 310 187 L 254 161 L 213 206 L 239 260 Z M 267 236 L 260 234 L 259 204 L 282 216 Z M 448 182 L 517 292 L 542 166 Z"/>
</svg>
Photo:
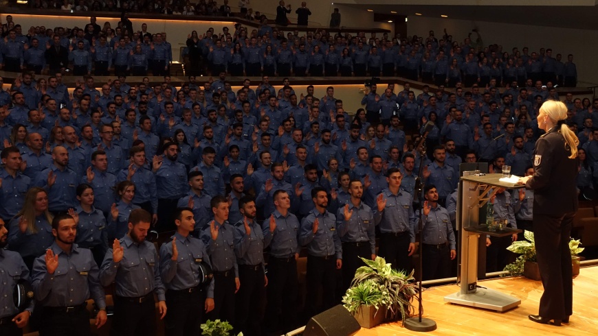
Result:
<svg viewBox="0 0 598 336">
<path fill-rule="evenodd" d="M 430 29 L 434 30 L 437 38 L 443 34 L 443 28 L 453 36 L 453 40 L 460 43 L 467 34 L 477 27 L 483 38 L 484 45 L 502 45 L 503 51 L 511 52 L 513 47 L 522 50 L 529 47 L 529 53 L 538 52 L 540 48 L 553 49 L 553 56 L 557 53 L 566 56 L 573 53 L 573 62 L 577 65 L 579 81 L 586 82 L 586 86 L 598 85 L 598 66 L 595 57 L 598 54 L 597 30 L 565 29 L 540 27 L 529 25 L 512 25 L 483 21 L 452 20 L 430 18 L 425 16 L 409 16 L 407 34 L 412 36 L 428 36 Z M 555 19 L 556 16 L 555 16 Z M 475 36 L 475 34 L 474 34 Z"/>
</svg>

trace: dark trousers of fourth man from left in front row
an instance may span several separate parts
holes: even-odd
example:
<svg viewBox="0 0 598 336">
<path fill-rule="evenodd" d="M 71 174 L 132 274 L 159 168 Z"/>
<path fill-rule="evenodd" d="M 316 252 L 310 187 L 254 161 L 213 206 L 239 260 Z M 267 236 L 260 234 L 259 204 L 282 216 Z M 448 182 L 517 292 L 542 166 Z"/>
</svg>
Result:
<svg viewBox="0 0 598 336">
<path fill-rule="evenodd" d="M 199 336 L 203 321 L 206 291 L 197 286 L 190 289 L 166 291 L 166 336 Z"/>
</svg>

